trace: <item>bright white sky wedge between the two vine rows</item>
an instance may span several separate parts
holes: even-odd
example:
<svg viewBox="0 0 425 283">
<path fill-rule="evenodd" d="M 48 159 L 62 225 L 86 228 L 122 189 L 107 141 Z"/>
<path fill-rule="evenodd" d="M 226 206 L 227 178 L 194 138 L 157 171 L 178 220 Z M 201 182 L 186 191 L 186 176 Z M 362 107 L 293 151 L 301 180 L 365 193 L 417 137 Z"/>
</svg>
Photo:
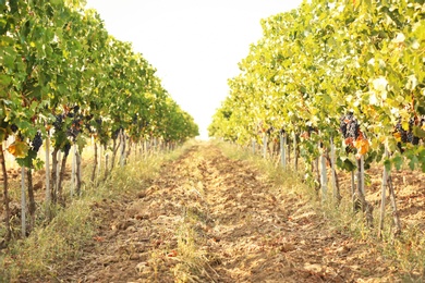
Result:
<svg viewBox="0 0 425 283">
<path fill-rule="evenodd" d="M 208 136 L 211 116 L 229 94 L 260 19 L 296 8 L 301 0 L 87 0 L 112 36 L 131 41 L 156 67 L 171 97 Z"/>
</svg>

